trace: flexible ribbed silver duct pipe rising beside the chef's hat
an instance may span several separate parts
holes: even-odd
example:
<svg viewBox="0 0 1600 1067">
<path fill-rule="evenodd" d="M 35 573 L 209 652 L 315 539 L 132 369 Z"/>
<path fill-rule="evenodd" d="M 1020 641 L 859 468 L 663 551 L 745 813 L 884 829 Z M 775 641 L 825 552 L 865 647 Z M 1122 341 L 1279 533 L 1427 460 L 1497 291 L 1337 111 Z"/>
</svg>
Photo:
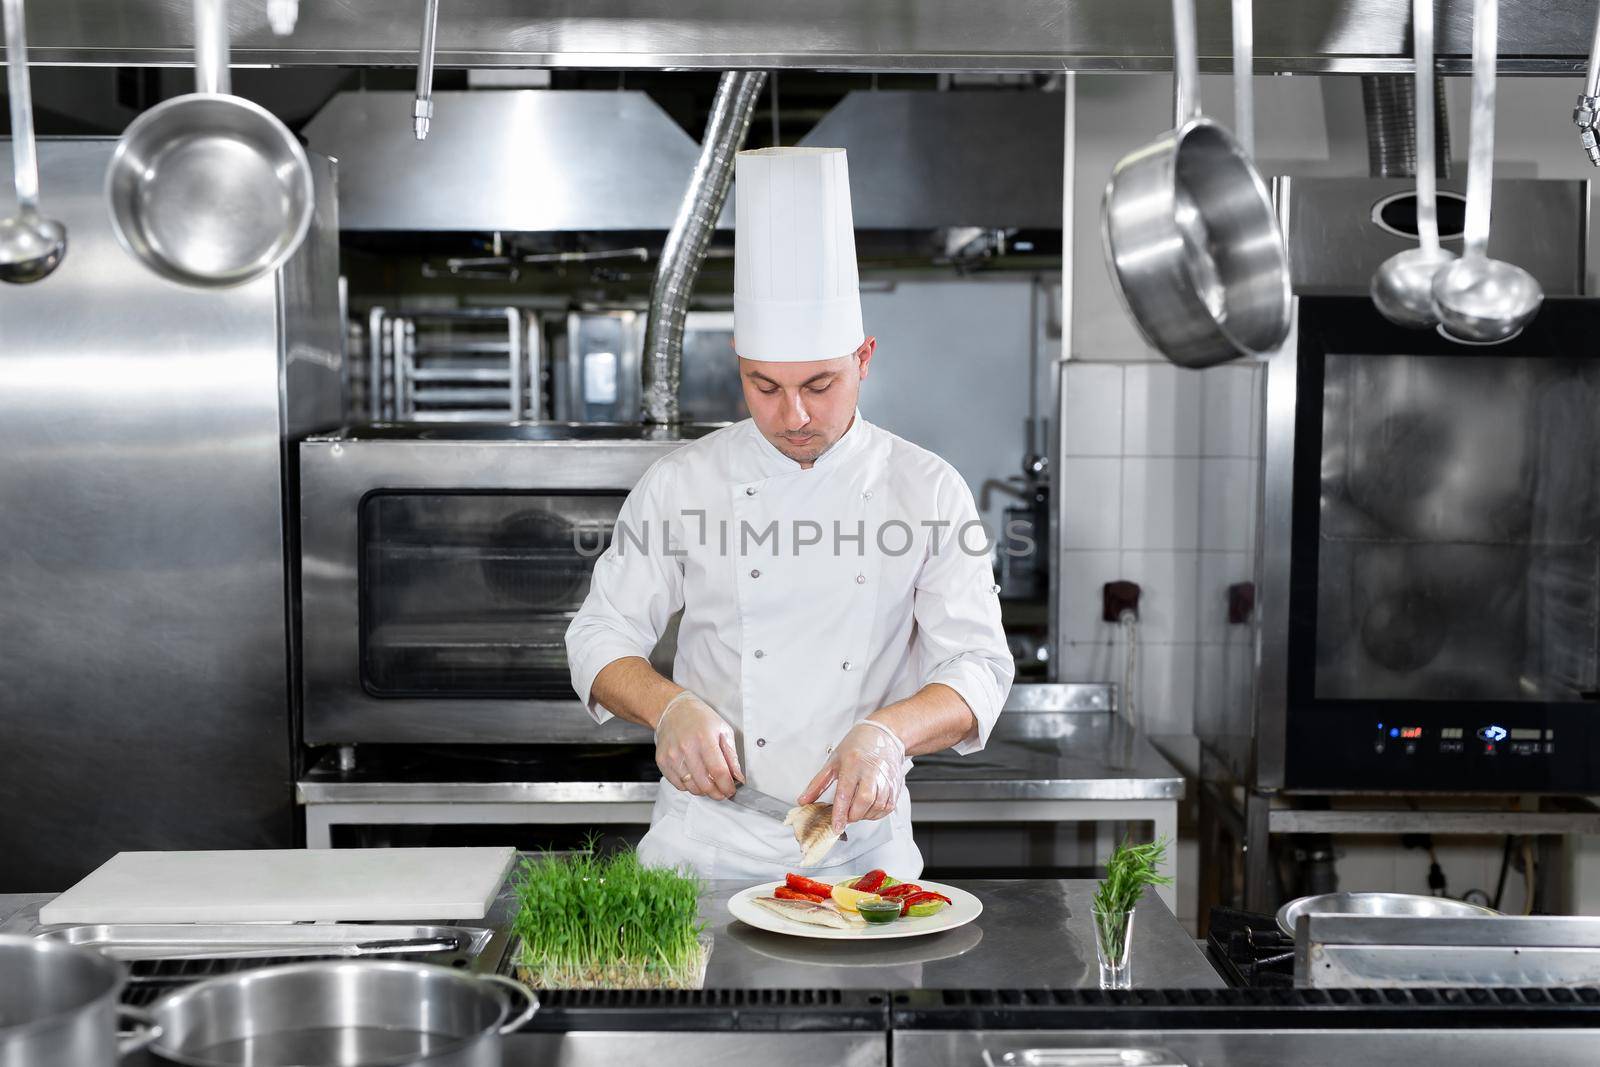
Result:
<svg viewBox="0 0 1600 1067">
<path fill-rule="evenodd" d="M 683 322 L 690 314 L 690 294 L 728 202 L 733 157 L 744 144 L 765 82 L 765 70 L 730 70 L 717 85 L 699 162 L 661 248 L 661 264 L 650 288 L 650 320 L 640 363 L 645 422 L 670 426 L 678 421 Z"/>
</svg>

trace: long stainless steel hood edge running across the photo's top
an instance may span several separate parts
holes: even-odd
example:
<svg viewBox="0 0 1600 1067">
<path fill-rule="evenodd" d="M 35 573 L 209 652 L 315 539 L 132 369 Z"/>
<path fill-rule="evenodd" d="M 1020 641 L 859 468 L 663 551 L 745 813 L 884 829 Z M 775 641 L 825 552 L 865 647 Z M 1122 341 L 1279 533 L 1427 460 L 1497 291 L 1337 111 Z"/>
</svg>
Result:
<svg viewBox="0 0 1600 1067">
<path fill-rule="evenodd" d="M 189 62 L 190 5 L 181 0 L 51 0 L 29 11 L 35 62 Z M 1443 70 L 1466 70 L 1470 0 L 1440 0 Z M 302 3 L 291 37 L 272 35 L 267 0 L 230 5 L 234 62 L 413 64 L 422 5 Z M 1592 0 L 1501 5 L 1506 72 L 1581 74 Z M 1205 69 L 1229 56 L 1229 5 L 1198 5 Z M 1299 0 L 1256 19 L 1262 72 L 1403 72 L 1408 5 Z M 438 19 L 440 67 L 1163 70 L 1166 0 L 451 0 Z"/>
</svg>

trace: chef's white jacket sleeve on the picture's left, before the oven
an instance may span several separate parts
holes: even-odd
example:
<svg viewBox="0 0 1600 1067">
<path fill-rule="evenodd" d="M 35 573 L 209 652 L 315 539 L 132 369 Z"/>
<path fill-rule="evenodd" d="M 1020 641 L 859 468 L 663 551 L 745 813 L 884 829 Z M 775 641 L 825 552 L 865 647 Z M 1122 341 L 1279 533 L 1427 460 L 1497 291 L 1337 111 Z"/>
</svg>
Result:
<svg viewBox="0 0 1600 1067">
<path fill-rule="evenodd" d="M 622 501 L 611 545 L 595 560 L 589 595 L 566 627 L 573 689 L 597 723 L 611 712 L 594 699 L 595 675 L 629 656 L 650 659 L 672 614 L 683 606 L 682 517 L 662 506 L 669 475 L 654 466 Z M 669 550 L 670 549 L 670 550 Z"/>
</svg>

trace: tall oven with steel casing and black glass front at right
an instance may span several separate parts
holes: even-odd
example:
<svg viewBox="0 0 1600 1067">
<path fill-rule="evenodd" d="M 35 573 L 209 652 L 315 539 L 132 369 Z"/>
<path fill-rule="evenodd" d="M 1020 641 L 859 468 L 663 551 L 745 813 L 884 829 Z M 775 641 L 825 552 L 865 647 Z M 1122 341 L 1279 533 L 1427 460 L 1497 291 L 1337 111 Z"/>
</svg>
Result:
<svg viewBox="0 0 1600 1067">
<path fill-rule="evenodd" d="M 1600 301 L 1589 187 L 1498 181 L 1491 254 L 1547 299 L 1515 339 L 1392 326 L 1403 182 L 1286 200 L 1296 328 L 1267 365 L 1254 717 L 1202 736 L 1264 790 L 1600 789 Z M 1446 227 L 1448 229 L 1448 227 Z"/>
</svg>

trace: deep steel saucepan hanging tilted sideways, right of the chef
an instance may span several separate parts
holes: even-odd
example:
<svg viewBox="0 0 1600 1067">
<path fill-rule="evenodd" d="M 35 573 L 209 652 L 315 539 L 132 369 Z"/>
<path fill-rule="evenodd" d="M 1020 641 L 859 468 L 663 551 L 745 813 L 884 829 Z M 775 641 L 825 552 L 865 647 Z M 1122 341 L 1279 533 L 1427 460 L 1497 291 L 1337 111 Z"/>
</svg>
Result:
<svg viewBox="0 0 1600 1067">
<path fill-rule="evenodd" d="M 1173 42 L 1178 126 L 1117 163 L 1101 232 L 1139 333 L 1173 363 L 1198 368 L 1283 344 L 1290 269 L 1250 155 L 1200 114 L 1194 0 L 1173 0 Z"/>
</svg>

